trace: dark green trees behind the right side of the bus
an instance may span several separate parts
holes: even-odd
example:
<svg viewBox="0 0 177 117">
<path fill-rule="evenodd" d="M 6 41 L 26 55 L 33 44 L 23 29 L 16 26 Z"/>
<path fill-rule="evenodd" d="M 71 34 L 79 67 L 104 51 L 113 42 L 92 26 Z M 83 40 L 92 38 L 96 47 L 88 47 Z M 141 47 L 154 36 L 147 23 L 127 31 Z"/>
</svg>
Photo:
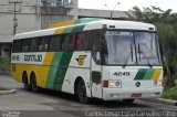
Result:
<svg viewBox="0 0 177 117">
<path fill-rule="evenodd" d="M 152 6 L 150 8 L 133 8 L 134 14 L 127 13 L 129 20 L 154 23 L 157 26 L 163 64 L 167 64 L 167 86 L 173 87 L 177 77 L 177 13 Z"/>
</svg>

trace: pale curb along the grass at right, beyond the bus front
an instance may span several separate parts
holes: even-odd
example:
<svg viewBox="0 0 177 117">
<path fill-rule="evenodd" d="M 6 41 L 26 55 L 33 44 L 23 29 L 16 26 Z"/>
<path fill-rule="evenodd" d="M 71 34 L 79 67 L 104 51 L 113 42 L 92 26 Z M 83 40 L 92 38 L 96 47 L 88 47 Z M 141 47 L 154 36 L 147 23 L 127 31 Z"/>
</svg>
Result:
<svg viewBox="0 0 177 117">
<path fill-rule="evenodd" d="M 143 99 L 143 100 L 148 100 L 148 102 L 154 102 L 154 103 L 162 103 L 162 104 L 167 104 L 167 105 L 175 105 L 175 106 L 177 106 L 177 100 L 171 100 L 171 99 L 152 98 L 152 99 Z"/>
</svg>

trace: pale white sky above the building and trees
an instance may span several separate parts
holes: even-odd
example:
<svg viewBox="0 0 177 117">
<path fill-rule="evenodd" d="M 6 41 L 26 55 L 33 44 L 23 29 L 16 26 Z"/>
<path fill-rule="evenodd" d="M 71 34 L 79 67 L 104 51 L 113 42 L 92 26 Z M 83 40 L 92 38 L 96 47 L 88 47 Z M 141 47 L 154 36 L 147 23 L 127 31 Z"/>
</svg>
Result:
<svg viewBox="0 0 177 117">
<path fill-rule="evenodd" d="M 162 10 L 173 9 L 177 12 L 177 0 L 79 0 L 79 8 L 84 9 L 113 10 L 115 8 L 115 10 L 127 11 L 135 6 L 139 8 L 156 6 Z"/>
</svg>

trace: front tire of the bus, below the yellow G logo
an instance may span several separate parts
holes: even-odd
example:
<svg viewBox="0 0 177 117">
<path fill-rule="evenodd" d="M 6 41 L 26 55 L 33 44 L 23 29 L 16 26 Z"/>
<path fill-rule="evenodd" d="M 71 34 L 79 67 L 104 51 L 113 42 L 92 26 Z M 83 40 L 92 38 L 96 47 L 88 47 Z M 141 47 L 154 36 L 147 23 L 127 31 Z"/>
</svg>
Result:
<svg viewBox="0 0 177 117">
<path fill-rule="evenodd" d="M 76 93 L 77 93 L 77 98 L 81 103 L 84 104 L 90 103 L 91 99 L 86 96 L 86 87 L 83 79 L 79 82 Z"/>
</svg>

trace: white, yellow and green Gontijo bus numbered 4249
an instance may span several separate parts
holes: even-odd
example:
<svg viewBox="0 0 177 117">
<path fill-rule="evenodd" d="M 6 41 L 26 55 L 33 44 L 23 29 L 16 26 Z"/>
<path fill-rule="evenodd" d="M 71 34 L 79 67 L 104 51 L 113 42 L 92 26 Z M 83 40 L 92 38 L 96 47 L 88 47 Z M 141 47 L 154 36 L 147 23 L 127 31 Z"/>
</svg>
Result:
<svg viewBox="0 0 177 117">
<path fill-rule="evenodd" d="M 153 24 L 80 19 L 70 25 L 17 34 L 12 77 L 27 91 L 56 89 L 91 98 L 157 98 L 163 65 Z"/>
</svg>

